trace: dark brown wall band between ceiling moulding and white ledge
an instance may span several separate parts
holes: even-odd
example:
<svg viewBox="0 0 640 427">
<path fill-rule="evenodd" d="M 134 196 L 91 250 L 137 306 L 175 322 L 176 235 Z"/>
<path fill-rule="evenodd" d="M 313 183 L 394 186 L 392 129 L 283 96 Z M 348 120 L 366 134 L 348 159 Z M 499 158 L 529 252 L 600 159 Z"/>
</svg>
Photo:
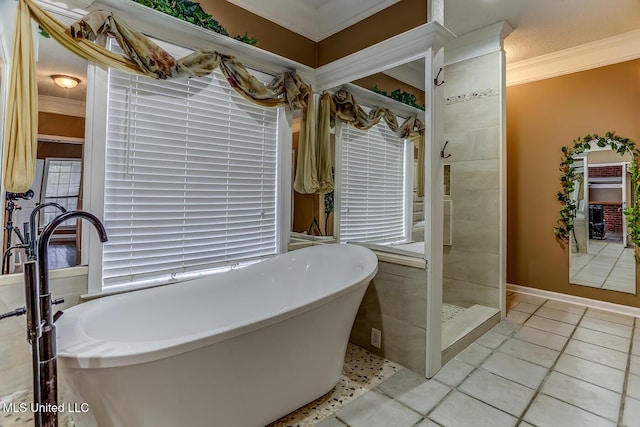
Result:
<svg viewBox="0 0 640 427">
<path fill-rule="evenodd" d="M 427 2 L 401 0 L 319 43 L 226 0 L 203 0 L 202 8 L 231 36 L 249 33 L 258 47 L 318 67 L 427 22 Z"/>
</svg>

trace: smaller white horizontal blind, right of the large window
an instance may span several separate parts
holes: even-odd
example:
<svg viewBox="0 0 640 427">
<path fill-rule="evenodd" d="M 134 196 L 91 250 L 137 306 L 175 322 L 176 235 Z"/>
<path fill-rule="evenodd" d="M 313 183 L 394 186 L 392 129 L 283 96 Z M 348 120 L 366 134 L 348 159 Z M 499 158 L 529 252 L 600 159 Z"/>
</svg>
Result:
<svg viewBox="0 0 640 427">
<path fill-rule="evenodd" d="M 406 240 L 405 142 L 381 120 L 367 131 L 342 126 L 340 240 Z"/>
</svg>

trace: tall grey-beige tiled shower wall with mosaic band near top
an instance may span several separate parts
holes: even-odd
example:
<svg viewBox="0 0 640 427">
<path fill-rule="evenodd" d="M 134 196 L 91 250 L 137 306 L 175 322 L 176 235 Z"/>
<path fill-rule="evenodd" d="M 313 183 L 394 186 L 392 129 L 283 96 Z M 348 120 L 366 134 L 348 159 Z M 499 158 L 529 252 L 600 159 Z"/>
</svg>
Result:
<svg viewBox="0 0 640 427">
<path fill-rule="evenodd" d="M 448 65 L 446 160 L 453 245 L 444 248 L 446 303 L 499 308 L 501 52 Z"/>
</svg>

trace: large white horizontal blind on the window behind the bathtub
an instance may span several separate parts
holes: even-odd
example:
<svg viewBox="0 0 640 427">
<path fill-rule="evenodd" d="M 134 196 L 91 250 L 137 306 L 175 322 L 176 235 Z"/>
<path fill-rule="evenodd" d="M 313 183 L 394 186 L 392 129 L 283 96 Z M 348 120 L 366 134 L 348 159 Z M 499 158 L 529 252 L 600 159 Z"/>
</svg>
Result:
<svg viewBox="0 0 640 427">
<path fill-rule="evenodd" d="M 277 120 L 219 71 L 110 70 L 103 289 L 275 254 Z"/>
</svg>

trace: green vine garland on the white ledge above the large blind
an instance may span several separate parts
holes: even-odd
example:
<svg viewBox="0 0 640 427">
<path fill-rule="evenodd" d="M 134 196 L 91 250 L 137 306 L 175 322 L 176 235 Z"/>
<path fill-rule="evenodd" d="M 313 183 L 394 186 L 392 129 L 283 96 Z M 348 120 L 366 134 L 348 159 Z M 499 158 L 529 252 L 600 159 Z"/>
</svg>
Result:
<svg viewBox="0 0 640 427">
<path fill-rule="evenodd" d="M 151 9 L 166 13 L 175 18 L 181 19 L 185 22 L 197 25 L 207 30 L 214 31 L 223 36 L 229 36 L 229 32 L 216 21 L 213 16 L 205 12 L 199 3 L 194 3 L 189 0 L 133 0 L 136 3 L 140 3 L 143 6 L 150 7 Z M 244 35 L 235 36 L 234 39 L 241 42 L 255 45 L 258 40 L 251 38 L 244 33 Z"/>
</svg>

